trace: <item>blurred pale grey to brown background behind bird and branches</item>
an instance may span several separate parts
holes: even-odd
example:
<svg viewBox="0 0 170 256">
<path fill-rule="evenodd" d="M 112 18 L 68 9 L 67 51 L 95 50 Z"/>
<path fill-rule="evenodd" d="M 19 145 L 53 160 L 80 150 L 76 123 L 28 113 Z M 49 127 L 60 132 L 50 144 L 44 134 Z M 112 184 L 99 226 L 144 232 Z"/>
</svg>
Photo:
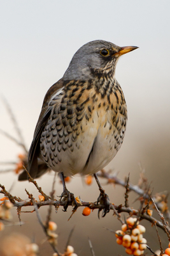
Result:
<svg viewBox="0 0 170 256">
<path fill-rule="evenodd" d="M 139 163 L 146 170 L 146 177 L 152 182 L 153 193 L 169 191 L 170 168 L 170 3 L 168 0 L 150 1 L 1 1 L 0 3 L 0 94 L 10 104 L 24 136 L 27 149 L 38 120 L 43 98 L 53 83 L 66 71 L 69 61 L 81 45 L 92 40 L 107 40 L 120 46 L 136 45 L 138 50 L 120 58 L 116 78 L 124 91 L 128 109 L 128 124 L 124 143 L 106 170 L 118 171 L 124 179 L 131 173 L 131 182 L 139 179 Z M 10 116 L 0 100 L 0 129 L 17 138 Z M 0 161 L 17 161 L 23 150 L 13 141 L 0 134 Z M 7 168 L 1 166 L 1 170 Z M 52 188 L 53 173 L 37 180 L 46 193 Z M 33 184 L 18 182 L 14 173 L 0 174 L 0 183 L 11 193 L 27 198 L 27 188 L 38 200 Z M 124 204 L 124 189 L 118 186 L 104 186 L 114 204 Z M 97 184 L 85 186 L 80 177 L 74 177 L 67 188 L 82 200 L 94 202 L 99 196 Z M 59 178 L 56 195 L 62 192 Z M 130 197 L 130 204 L 133 197 Z M 134 204 L 138 209 L 139 204 Z M 40 209 L 45 220 L 48 208 Z M 89 217 L 81 215 L 78 209 L 67 221 L 71 209 L 55 214 L 52 220 L 58 225 L 58 248 L 63 252 L 69 231 L 75 225 L 71 244 L 78 255 L 90 255 L 88 236 L 96 255 L 125 255 L 124 248 L 118 246 L 112 233 L 103 227 L 120 229 L 120 223 L 110 212 L 101 220 L 97 211 Z M 13 209 L 13 220 L 18 221 Z M 157 214 L 156 214 L 157 217 Z M 52 255 L 48 243 L 41 244 L 45 234 L 39 226 L 36 214 L 22 214 L 25 225 L 6 227 L 1 236 L 13 231 L 35 239 L 40 247 L 40 255 Z M 159 243 L 151 225 L 146 238 L 156 250 Z M 166 248 L 167 237 L 160 230 L 162 244 Z"/>
</svg>

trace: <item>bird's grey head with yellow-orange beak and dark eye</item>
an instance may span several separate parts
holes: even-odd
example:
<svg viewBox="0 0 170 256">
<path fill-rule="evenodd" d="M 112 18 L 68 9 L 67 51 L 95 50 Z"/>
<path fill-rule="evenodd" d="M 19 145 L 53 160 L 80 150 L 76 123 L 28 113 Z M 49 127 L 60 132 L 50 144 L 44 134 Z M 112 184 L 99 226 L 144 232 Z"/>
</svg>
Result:
<svg viewBox="0 0 170 256">
<path fill-rule="evenodd" d="M 135 46 L 120 47 L 103 40 L 89 42 L 81 46 L 74 54 L 63 79 L 92 79 L 94 72 L 103 74 L 111 72 L 114 76 L 118 58 L 137 48 Z"/>
</svg>

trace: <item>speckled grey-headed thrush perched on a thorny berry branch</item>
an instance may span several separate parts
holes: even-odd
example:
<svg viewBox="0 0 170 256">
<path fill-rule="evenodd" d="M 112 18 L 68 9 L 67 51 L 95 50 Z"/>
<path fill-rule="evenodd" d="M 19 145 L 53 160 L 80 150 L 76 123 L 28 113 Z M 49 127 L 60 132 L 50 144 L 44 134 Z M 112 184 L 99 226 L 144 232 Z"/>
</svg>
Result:
<svg viewBox="0 0 170 256">
<path fill-rule="evenodd" d="M 110 211 L 108 195 L 97 178 L 115 157 L 125 136 L 127 105 L 115 79 L 117 61 L 138 47 L 120 47 L 94 40 L 76 51 L 64 76 L 53 84 L 45 99 L 28 153 L 27 171 L 33 179 L 52 169 L 60 173 L 61 198 L 67 198 L 64 211 L 72 200 L 64 177 L 94 175 L 100 195 L 97 204 Z M 24 170 L 18 180 L 26 180 Z"/>
</svg>

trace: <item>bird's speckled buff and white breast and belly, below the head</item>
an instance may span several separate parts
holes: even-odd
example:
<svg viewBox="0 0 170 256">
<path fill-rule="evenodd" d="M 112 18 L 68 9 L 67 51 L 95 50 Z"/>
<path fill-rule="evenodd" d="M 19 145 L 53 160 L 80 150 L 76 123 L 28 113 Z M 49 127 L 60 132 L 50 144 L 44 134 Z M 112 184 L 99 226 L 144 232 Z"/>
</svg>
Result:
<svg viewBox="0 0 170 256">
<path fill-rule="evenodd" d="M 70 81 L 50 102 L 41 156 L 56 172 L 96 173 L 117 154 L 127 123 L 124 94 L 111 81 Z"/>
</svg>

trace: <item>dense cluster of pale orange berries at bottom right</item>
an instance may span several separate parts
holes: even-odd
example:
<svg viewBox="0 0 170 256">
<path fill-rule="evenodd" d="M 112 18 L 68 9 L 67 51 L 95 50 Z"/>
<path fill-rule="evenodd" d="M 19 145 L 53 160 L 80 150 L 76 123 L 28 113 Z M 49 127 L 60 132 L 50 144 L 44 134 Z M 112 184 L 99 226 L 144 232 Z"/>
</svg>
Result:
<svg viewBox="0 0 170 256">
<path fill-rule="evenodd" d="M 145 231 L 145 227 L 139 225 L 137 218 L 130 217 L 122 225 L 122 230 L 115 232 L 117 243 L 122 244 L 126 248 L 125 252 L 129 255 L 143 255 L 146 249 L 146 239 L 143 238 Z"/>
</svg>

